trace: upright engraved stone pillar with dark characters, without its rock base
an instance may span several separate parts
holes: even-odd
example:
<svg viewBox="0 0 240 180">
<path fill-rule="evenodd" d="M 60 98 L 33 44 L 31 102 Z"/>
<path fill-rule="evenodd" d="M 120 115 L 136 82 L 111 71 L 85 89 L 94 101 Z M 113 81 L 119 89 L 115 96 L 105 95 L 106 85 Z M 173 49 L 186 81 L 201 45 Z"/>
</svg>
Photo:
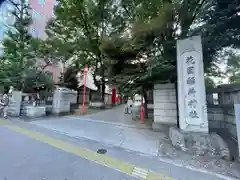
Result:
<svg viewBox="0 0 240 180">
<path fill-rule="evenodd" d="M 208 133 L 200 36 L 177 41 L 179 124 L 183 131 Z"/>
</svg>

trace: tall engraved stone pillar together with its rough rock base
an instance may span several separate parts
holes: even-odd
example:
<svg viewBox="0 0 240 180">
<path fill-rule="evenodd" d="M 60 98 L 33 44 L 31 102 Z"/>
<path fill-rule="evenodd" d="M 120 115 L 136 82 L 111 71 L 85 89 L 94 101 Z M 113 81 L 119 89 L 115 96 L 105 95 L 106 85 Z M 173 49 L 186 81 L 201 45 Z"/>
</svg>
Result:
<svg viewBox="0 0 240 180">
<path fill-rule="evenodd" d="M 177 41 L 178 109 L 180 129 L 169 128 L 173 146 L 192 153 L 231 160 L 227 143 L 208 131 L 206 90 L 200 36 Z"/>
</svg>

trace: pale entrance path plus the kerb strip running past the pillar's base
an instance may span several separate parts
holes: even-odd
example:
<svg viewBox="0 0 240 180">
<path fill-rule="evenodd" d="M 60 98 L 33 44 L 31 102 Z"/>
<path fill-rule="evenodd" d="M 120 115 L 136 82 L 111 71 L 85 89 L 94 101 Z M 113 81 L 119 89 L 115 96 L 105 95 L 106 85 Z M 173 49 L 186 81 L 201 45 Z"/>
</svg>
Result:
<svg viewBox="0 0 240 180">
<path fill-rule="evenodd" d="M 240 179 L 239 163 L 212 157 L 192 156 L 179 151 L 172 147 L 164 133 L 153 132 L 148 124 L 132 121 L 129 115 L 124 115 L 121 108 L 86 116 L 51 117 L 47 120 L 32 121 L 30 124 L 68 137 L 85 138 L 127 151 L 135 151 L 143 156 L 180 167 Z"/>
</svg>

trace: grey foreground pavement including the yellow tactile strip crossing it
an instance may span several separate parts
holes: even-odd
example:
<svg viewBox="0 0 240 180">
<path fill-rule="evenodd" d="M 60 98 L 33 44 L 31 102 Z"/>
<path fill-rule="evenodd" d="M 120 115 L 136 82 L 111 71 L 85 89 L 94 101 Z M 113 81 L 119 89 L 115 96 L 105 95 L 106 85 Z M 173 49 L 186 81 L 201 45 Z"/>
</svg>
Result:
<svg viewBox="0 0 240 180">
<path fill-rule="evenodd" d="M 220 180 L 135 152 L 70 138 L 28 123 L 0 121 L 0 179 Z M 105 155 L 98 148 L 107 149 Z"/>
</svg>

